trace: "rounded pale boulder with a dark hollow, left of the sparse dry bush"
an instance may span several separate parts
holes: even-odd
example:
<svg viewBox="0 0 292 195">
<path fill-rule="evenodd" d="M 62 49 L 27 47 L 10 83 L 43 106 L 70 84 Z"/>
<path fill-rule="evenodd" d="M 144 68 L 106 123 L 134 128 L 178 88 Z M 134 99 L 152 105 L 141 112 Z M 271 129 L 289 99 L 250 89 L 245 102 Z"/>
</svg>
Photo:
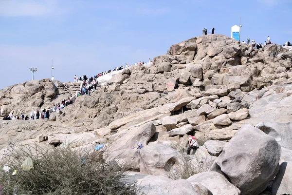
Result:
<svg viewBox="0 0 292 195">
<path fill-rule="evenodd" d="M 175 171 L 182 155 L 163 144 L 149 144 L 140 150 L 140 173 L 153 176 L 169 176 Z"/>
</svg>

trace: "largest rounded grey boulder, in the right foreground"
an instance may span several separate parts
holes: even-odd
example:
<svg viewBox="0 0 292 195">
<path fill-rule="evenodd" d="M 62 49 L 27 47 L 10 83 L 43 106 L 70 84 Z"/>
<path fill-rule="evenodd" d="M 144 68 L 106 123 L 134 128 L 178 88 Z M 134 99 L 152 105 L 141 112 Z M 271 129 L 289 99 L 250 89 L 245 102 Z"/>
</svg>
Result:
<svg viewBox="0 0 292 195">
<path fill-rule="evenodd" d="M 228 178 L 242 195 L 258 195 L 276 175 L 280 156 L 273 137 L 246 125 L 225 145 L 211 171 Z"/>
</svg>

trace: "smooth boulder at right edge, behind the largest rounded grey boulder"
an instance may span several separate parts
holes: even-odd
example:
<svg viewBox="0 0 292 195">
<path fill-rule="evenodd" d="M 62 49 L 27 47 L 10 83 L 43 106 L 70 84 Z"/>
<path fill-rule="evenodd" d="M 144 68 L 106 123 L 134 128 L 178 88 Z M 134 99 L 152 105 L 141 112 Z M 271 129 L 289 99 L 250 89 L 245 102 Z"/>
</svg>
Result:
<svg viewBox="0 0 292 195">
<path fill-rule="evenodd" d="M 256 128 L 274 137 L 282 147 L 292 150 L 292 122 L 281 123 L 264 121 L 258 123 Z"/>
</svg>

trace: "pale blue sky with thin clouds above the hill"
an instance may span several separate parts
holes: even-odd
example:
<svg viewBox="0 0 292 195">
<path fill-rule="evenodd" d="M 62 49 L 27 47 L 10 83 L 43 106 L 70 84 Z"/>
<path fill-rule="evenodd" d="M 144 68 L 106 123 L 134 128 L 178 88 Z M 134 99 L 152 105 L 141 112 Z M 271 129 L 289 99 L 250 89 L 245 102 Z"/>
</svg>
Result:
<svg viewBox="0 0 292 195">
<path fill-rule="evenodd" d="M 292 0 L 0 0 L 0 89 L 32 79 L 62 82 L 166 54 L 208 33 L 292 42 Z"/>
</svg>

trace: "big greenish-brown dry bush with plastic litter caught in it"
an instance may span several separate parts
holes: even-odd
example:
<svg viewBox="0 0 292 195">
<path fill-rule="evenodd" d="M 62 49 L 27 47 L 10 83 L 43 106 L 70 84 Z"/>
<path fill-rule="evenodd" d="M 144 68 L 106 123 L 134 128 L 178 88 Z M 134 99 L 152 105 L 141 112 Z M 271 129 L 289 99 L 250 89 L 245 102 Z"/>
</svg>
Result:
<svg viewBox="0 0 292 195">
<path fill-rule="evenodd" d="M 34 167 L 23 171 L 27 157 Z M 123 169 L 103 158 L 103 152 L 72 150 L 69 146 L 19 148 L 0 170 L 3 195 L 135 195 L 135 186 L 121 182 Z M 3 167 L 3 165 L 2 165 Z M 18 170 L 15 176 L 12 172 Z"/>
</svg>

